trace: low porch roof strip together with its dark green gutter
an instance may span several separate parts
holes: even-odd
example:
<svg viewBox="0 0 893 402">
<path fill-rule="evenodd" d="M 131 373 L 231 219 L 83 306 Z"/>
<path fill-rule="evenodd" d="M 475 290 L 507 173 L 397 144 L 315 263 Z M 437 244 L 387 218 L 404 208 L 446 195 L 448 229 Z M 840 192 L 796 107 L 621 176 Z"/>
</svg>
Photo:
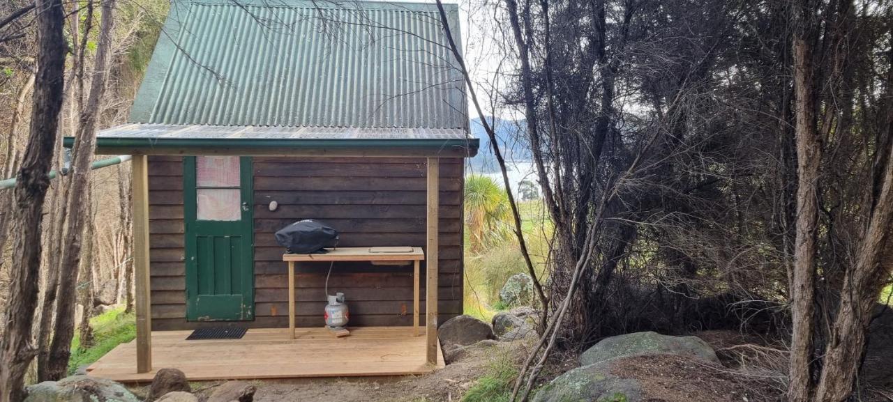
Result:
<svg viewBox="0 0 893 402">
<path fill-rule="evenodd" d="M 73 137 L 63 145 L 71 147 Z M 96 153 L 145 155 L 438 156 L 470 158 L 480 141 L 461 128 L 208 126 L 131 123 L 105 129 Z"/>
</svg>

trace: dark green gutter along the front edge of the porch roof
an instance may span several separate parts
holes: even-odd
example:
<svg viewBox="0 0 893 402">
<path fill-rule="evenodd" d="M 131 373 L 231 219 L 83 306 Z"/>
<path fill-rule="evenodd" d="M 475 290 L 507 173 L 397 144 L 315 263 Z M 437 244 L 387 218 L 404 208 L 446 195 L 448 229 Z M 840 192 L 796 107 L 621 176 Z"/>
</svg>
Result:
<svg viewBox="0 0 893 402">
<path fill-rule="evenodd" d="M 73 137 L 63 145 L 71 147 Z M 101 155 L 370 156 L 472 158 L 480 140 L 432 138 L 254 139 L 254 138 L 96 138 Z"/>
</svg>

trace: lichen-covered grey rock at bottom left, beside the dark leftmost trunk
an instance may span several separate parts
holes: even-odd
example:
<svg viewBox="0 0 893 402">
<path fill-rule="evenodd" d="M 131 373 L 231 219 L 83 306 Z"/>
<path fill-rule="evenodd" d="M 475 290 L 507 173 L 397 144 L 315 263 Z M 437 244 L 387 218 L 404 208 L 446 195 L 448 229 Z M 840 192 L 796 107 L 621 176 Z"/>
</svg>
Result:
<svg viewBox="0 0 893 402">
<path fill-rule="evenodd" d="M 44 381 L 27 389 L 24 402 L 139 402 L 123 385 L 104 378 L 73 375 L 60 381 Z"/>
</svg>

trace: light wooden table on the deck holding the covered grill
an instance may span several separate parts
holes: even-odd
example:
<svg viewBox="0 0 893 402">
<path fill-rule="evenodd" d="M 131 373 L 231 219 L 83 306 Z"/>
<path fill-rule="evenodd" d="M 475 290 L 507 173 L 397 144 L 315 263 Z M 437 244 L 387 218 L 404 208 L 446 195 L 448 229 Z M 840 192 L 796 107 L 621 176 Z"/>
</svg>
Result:
<svg viewBox="0 0 893 402">
<path fill-rule="evenodd" d="M 413 262 L 413 336 L 419 336 L 419 262 L 425 259 L 420 247 L 405 252 L 372 252 L 373 247 L 338 247 L 321 254 L 282 254 L 288 262 L 288 333 L 295 338 L 295 263 L 330 261 L 412 261 Z M 390 248 L 396 249 L 396 248 Z"/>
</svg>

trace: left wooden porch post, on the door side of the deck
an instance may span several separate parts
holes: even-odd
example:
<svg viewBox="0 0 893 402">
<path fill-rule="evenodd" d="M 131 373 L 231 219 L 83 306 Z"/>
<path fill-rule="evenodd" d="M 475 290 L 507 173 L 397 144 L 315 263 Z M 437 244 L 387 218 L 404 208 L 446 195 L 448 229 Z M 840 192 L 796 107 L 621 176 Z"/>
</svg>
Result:
<svg viewBox="0 0 893 402">
<path fill-rule="evenodd" d="M 152 315 L 149 299 L 149 175 L 146 155 L 133 155 L 133 277 L 137 310 L 137 373 L 152 371 Z"/>
</svg>

